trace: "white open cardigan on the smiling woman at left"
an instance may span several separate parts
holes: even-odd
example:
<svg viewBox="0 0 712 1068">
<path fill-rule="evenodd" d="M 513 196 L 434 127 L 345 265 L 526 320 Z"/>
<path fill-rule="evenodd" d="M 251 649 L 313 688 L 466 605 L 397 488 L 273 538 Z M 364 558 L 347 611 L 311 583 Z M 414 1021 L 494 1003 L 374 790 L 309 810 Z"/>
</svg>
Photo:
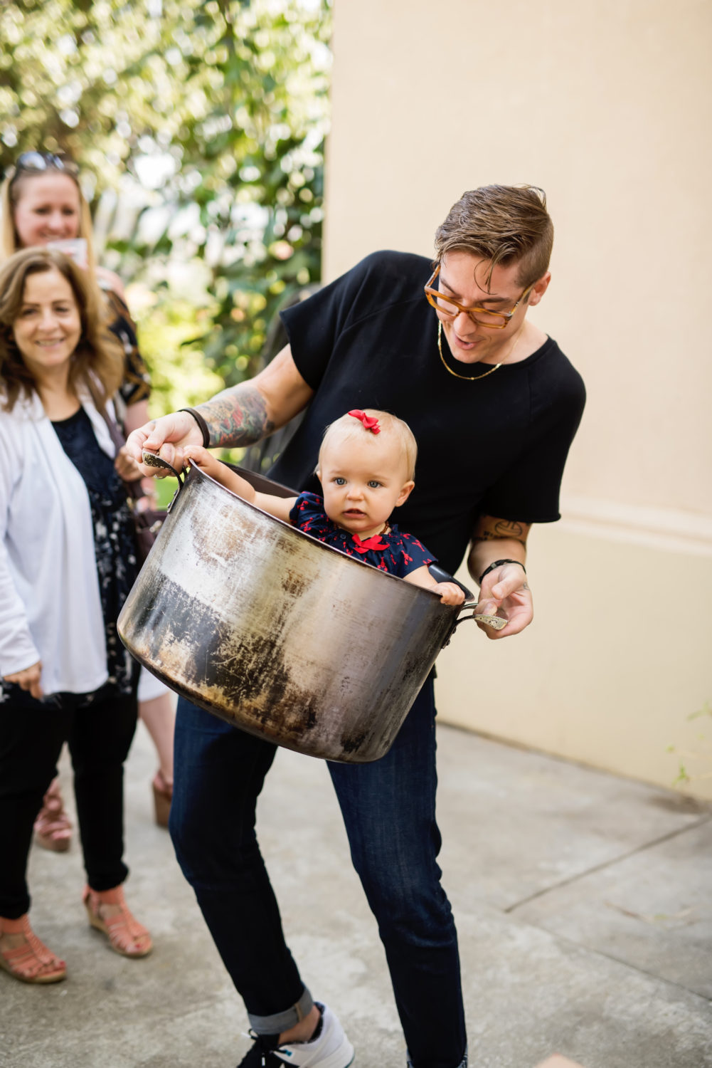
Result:
<svg viewBox="0 0 712 1068">
<path fill-rule="evenodd" d="M 113 458 L 104 419 L 80 399 Z M 38 660 L 45 694 L 90 693 L 108 677 L 86 486 L 33 394 L 0 407 L 0 677 Z"/>
</svg>

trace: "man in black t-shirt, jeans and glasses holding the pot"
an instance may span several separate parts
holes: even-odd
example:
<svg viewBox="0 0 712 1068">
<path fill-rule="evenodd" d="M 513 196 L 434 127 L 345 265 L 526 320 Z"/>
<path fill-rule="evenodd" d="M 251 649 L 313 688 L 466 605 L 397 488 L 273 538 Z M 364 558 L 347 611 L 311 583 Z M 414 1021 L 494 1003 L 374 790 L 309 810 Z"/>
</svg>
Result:
<svg viewBox="0 0 712 1068">
<path fill-rule="evenodd" d="M 137 460 L 143 447 L 160 451 L 180 468 L 188 444 L 247 445 L 305 409 L 269 474 L 318 489 L 323 428 L 354 407 L 392 411 L 420 450 L 399 525 L 450 574 L 469 550 L 478 611 L 508 618 L 500 631 L 481 629 L 493 641 L 519 633 L 533 617 L 526 536 L 533 522 L 559 518 L 585 400 L 556 342 L 526 317 L 549 286 L 552 241 L 540 189 L 466 192 L 436 233 L 434 264 L 367 256 L 282 313 L 289 344 L 255 378 L 136 430 L 129 450 Z M 457 934 L 437 863 L 434 716 L 429 679 L 384 757 L 329 770 L 385 948 L 408 1064 L 464 1068 Z M 352 1047 L 301 979 L 254 832 L 274 752 L 180 701 L 171 833 L 257 1036 L 242 1065 L 346 1068 Z"/>
</svg>

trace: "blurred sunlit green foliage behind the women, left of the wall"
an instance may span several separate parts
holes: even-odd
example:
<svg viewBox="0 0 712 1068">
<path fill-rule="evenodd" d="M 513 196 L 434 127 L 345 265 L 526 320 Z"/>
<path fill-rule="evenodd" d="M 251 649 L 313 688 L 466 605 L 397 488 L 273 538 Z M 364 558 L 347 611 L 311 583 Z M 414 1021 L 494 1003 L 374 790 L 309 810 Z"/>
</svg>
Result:
<svg viewBox="0 0 712 1068">
<path fill-rule="evenodd" d="M 329 5 L 0 0 L 0 166 L 81 164 L 159 408 L 253 374 L 278 307 L 319 278 Z"/>
</svg>

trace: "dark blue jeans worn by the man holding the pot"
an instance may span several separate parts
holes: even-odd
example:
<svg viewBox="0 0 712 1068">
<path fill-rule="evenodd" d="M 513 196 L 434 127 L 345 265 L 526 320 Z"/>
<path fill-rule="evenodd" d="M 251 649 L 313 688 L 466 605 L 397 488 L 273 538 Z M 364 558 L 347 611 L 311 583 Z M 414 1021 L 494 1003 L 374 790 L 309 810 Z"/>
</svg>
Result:
<svg viewBox="0 0 712 1068">
<path fill-rule="evenodd" d="M 351 858 L 378 921 L 412 1064 L 458 1068 L 466 1039 L 457 933 L 437 863 L 434 718 L 430 679 L 384 757 L 330 763 L 329 771 Z M 254 830 L 274 754 L 270 742 L 178 703 L 171 835 L 252 1026 L 262 1034 L 287 1030 L 311 1006 Z"/>
</svg>

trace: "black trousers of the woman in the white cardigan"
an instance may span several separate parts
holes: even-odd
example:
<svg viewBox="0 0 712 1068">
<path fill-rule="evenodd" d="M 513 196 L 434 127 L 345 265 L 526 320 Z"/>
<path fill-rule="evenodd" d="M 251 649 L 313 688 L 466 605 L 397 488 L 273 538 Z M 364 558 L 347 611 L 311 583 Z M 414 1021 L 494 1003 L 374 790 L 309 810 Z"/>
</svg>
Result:
<svg viewBox="0 0 712 1068">
<path fill-rule="evenodd" d="M 0 701 L 0 916 L 29 911 L 27 861 L 32 826 L 57 773 L 65 741 L 74 767 L 77 817 L 86 880 L 111 890 L 124 864 L 124 760 L 136 732 L 136 694 L 105 686 L 94 694 L 35 701 L 3 684 Z"/>
</svg>

